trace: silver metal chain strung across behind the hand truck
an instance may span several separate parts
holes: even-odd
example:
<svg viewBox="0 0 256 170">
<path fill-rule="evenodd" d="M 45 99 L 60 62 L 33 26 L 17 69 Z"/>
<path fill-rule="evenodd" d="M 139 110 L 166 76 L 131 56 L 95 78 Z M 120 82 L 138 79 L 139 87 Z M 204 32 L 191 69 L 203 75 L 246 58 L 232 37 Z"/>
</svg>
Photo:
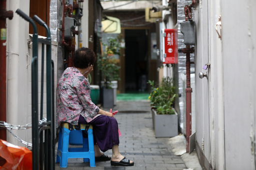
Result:
<svg viewBox="0 0 256 170">
<path fill-rule="evenodd" d="M 47 122 L 47 119 L 46 118 L 43 118 L 42 120 L 39 120 L 38 124 L 41 125 L 43 123 Z M 28 143 L 28 142 L 25 142 L 23 141 L 22 139 L 20 139 L 18 136 L 16 136 L 15 134 L 13 134 L 13 132 L 11 130 L 26 130 L 26 129 L 29 129 L 29 128 L 32 128 L 32 123 L 29 123 L 29 124 L 26 124 L 26 125 L 11 125 L 9 123 L 6 123 L 6 122 L 3 122 L 3 121 L 0 121 L 0 128 L 6 128 L 9 133 L 14 136 L 14 138 L 18 141 L 18 142 L 21 142 L 22 144 L 26 145 L 26 146 L 29 146 L 29 147 L 32 147 L 32 144 Z"/>
</svg>

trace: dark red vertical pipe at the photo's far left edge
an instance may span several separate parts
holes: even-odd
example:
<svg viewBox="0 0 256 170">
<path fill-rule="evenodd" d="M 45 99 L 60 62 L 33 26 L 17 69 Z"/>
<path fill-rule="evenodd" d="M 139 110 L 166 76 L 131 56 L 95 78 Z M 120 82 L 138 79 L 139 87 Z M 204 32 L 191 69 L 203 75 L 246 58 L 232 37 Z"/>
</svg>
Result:
<svg viewBox="0 0 256 170">
<path fill-rule="evenodd" d="M 6 11 L 6 0 L 0 0 L 0 120 L 6 122 L 6 18 L 13 12 Z M 0 129 L 0 139 L 6 141 L 6 130 Z"/>
</svg>

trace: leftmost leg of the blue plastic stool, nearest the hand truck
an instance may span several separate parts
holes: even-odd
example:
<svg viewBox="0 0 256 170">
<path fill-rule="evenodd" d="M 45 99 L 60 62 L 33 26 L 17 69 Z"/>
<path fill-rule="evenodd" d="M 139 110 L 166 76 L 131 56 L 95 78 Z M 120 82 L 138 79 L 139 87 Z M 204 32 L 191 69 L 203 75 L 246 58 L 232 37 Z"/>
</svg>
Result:
<svg viewBox="0 0 256 170">
<path fill-rule="evenodd" d="M 68 154 L 68 139 L 69 139 L 69 130 L 66 128 L 62 128 L 62 146 L 60 152 L 60 168 L 67 167 L 67 154 Z"/>
</svg>

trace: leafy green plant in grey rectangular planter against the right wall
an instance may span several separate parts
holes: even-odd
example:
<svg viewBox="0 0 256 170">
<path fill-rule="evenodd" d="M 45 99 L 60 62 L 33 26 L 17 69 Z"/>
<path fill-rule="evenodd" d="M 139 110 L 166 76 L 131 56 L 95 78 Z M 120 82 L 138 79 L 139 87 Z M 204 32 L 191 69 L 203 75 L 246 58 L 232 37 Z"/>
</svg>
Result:
<svg viewBox="0 0 256 170">
<path fill-rule="evenodd" d="M 174 137 L 178 135 L 178 117 L 175 112 L 174 99 L 176 94 L 171 78 L 164 77 L 159 87 L 154 81 L 148 81 L 151 92 L 150 100 L 155 137 Z"/>
</svg>

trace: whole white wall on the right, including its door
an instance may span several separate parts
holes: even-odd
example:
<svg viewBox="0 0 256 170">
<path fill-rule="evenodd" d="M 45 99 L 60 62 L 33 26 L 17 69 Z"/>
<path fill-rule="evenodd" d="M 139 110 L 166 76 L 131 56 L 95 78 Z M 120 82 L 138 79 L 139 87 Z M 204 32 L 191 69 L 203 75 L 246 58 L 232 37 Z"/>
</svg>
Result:
<svg viewBox="0 0 256 170">
<path fill-rule="evenodd" d="M 254 0 L 201 0 L 193 10 L 196 141 L 206 169 L 206 162 L 216 170 L 255 169 L 255 7 Z M 208 80 L 199 79 L 207 62 Z"/>
</svg>

